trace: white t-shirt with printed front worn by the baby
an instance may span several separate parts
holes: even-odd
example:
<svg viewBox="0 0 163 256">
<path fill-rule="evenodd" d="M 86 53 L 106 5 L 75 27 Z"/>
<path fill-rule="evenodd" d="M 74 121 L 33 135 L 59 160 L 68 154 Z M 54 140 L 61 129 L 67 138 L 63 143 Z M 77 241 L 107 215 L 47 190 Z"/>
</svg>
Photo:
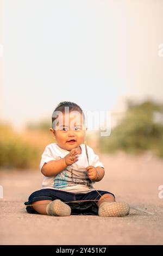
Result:
<svg viewBox="0 0 163 256">
<path fill-rule="evenodd" d="M 45 176 L 43 175 L 42 189 L 43 188 L 53 188 L 57 190 L 68 191 L 72 193 L 87 193 L 95 190 L 93 184 L 86 172 L 87 166 L 94 167 L 103 167 L 103 164 L 99 161 L 98 155 L 95 155 L 93 149 L 87 146 L 87 153 L 89 155 L 89 164 L 87 162 L 85 144 L 81 144 L 80 148 L 82 154 L 78 155 L 78 161 L 67 166 L 59 174 L 54 176 Z M 44 163 L 47 163 L 52 160 L 59 160 L 69 154 L 70 151 L 62 149 L 57 143 L 52 143 L 47 145 L 45 151 L 41 156 L 40 170 Z"/>
</svg>

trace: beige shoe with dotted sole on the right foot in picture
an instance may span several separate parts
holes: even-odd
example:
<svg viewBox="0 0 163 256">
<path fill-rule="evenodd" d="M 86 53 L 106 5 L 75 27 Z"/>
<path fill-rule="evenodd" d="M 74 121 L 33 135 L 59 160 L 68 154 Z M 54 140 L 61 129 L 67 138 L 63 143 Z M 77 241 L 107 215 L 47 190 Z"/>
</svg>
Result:
<svg viewBox="0 0 163 256">
<path fill-rule="evenodd" d="M 104 202 L 99 205 L 98 215 L 101 217 L 122 217 L 128 215 L 130 206 L 126 202 Z"/>
</svg>

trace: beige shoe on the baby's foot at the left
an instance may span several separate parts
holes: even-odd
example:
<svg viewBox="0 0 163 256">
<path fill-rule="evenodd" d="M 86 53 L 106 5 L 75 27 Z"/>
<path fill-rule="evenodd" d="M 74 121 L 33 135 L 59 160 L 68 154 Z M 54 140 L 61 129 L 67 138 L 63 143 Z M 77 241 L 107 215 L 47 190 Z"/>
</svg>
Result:
<svg viewBox="0 0 163 256">
<path fill-rule="evenodd" d="M 54 200 L 46 206 L 47 215 L 70 216 L 71 208 L 59 199 Z"/>
</svg>

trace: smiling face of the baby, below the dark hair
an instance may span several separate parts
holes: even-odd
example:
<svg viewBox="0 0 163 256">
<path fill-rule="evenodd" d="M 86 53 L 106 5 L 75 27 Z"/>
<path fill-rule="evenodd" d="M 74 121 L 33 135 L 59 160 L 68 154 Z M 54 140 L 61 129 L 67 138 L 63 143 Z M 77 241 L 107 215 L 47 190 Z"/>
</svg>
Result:
<svg viewBox="0 0 163 256">
<path fill-rule="evenodd" d="M 58 120 L 53 132 L 57 144 L 68 151 L 78 148 L 84 142 L 85 135 L 82 114 L 78 113 L 77 118 L 72 117 L 71 113 L 62 114 Z"/>
</svg>

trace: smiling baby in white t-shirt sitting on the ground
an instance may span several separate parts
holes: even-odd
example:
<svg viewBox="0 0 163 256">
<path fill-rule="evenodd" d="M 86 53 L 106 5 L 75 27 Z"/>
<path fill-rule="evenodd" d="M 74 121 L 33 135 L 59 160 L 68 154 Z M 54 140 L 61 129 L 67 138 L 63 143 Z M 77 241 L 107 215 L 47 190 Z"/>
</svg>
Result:
<svg viewBox="0 0 163 256">
<path fill-rule="evenodd" d="M 47 145 L 42 154 L 42 188 L 24 203 L 28 213 L 105 217 L 129 214 L 126 202 L 115 202 L 114 194 L 93 187 L 103 179 L 105 170 L 98 155 L 83 144 L 87 130 L 84 124 L 84 113 L 76 103 L 64 101 L 55 108 L 50 131 L 56 143 Z"/>
</svg>

